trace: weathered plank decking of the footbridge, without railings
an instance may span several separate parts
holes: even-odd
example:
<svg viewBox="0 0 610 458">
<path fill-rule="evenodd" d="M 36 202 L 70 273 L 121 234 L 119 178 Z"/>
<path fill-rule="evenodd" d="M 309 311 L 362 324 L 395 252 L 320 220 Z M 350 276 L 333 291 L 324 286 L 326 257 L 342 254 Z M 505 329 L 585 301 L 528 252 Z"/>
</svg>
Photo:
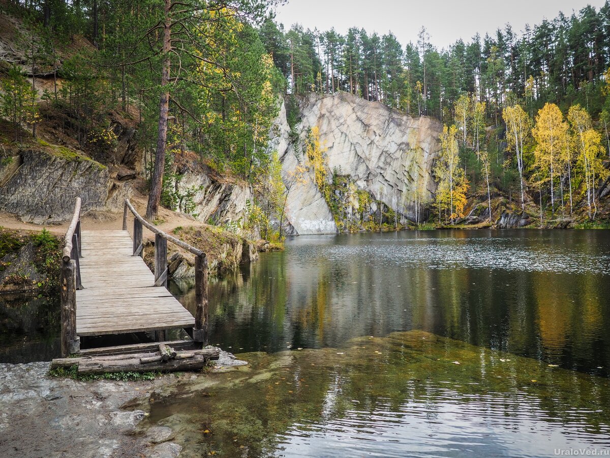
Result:
<svg viewBox="0 0 610 458">
<path fill-rule="evenodd" d="M 127 231 L 82 231 L 76 334 L 91 336 L 195 327 L 195 318 L 132 256 Z"/>
</svg>

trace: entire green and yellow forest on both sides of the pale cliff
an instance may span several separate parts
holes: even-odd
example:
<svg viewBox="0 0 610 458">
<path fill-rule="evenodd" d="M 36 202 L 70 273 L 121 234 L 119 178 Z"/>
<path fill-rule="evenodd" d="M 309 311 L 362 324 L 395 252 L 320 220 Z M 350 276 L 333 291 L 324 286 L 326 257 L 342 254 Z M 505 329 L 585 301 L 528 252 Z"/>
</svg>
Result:
<svg viewBox="0 0 610 458">
<path fill-rule="evenodd" d="M 270 236 L 289 192 L 268 151 L 278 98 L 293 127 L 301 95 L 348 92 L 445 125 L 434 198 L 415 186 L 400 197 L 416 202 L 411 213 L 394 198 L 395 220 L 492 224 L 508 208 L 528 224 L 610 217 L 610 2 L 448 49 L 424 28 L 417 43 L 356 27 L 287 29 L 273 20 L 275 3 L 2 0 L 2 38 L 14 45 L 0 50 L 3 136 L 44 137 L 61 115 L 76 148 L 99 158 L 117 143 L 112 120 L 128 119 L 148 217 L 158 205 L 190 213 L 198 189 L 179 187 L 173 164 L 196 158 L 254 186 L 242 224 Z M 301 160 L 319 175 L 324 139 L 299 141 L 306 153 L 314 140 L 320 154 Z"/>
</svg>

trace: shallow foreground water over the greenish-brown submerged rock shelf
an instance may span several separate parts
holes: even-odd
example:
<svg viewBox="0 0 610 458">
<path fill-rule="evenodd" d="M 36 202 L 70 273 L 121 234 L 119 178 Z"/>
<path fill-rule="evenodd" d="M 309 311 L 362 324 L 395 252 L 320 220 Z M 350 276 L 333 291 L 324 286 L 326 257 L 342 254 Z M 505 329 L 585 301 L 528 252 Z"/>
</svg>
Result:
<svg viewBox="0 0 610 458">
<path fill-rule="evenodd" d="M 172 427 L 185 457 L 540 457 L 610 446 L 608 379 L 421 331 L 242 357 L 251 365 L 238 373 L 155 394 L 145 426 Z"/>
</svg>

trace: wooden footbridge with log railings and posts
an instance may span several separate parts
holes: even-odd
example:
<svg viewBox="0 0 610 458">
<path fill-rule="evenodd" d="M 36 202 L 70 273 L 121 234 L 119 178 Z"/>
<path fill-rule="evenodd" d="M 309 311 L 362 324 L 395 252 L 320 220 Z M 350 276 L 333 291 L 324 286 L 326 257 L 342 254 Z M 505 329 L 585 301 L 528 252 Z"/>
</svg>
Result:
<svg viewBox="0 0 610 458">
<path fill-rule="evenodd" d="M 133 239 L 127 231 L 129 213 L 134 218 Z M 154 274 L 143 260 L 143 227 L 155 234 Z M 195 316 L 167 289 L 168 241 L 195 255 Z M 217 350 L 201 349 L 207 340 L 206 254 L 154 227 L 129 200 L 124 204 L 122 230 L 82 230 L 81 199 L 77 198 L 61 263 L 62 356 L 81 358 L 54 360 L 55 366 L 80 362 L 89 369 L 159 370 L 160 366 L 184 370 L 193 362 L 199 366 L 206 359 L 218 358 Z M 172 329 L 184 329 L 191 339 L 167 341 Z M 81 350 L 81 336 L 124 333 L 149 333 L 156 341 Z M 186 352 L 178 354 L 174 348 Z M 167 352 L 178 360 L 168 365 Z M 145 364 L 138 365 L 140 360 Z"/>
</svg>

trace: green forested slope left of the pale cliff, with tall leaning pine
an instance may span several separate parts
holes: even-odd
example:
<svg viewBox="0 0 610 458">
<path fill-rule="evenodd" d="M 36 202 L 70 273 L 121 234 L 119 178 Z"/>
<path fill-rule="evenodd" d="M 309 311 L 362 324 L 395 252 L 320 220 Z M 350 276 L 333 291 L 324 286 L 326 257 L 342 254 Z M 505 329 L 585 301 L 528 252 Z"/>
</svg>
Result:
<svg viewBox="0 0 610 458">
<path fill-rule="evenodd" d="M 120 118 L 143 150 L 151 219 L 159 204 L 190 213 L 198 188 L 179 191 L 173 167 L 187 151 L 217 174 L 259 183 L 283 85 L 255 28 L 270 4 L 0 2 L 4 139 L 28 142 L 43 126 L 76 143 L 43 140 L 117 165 L 96 150 L 117 148 Z"/>
</svg>

